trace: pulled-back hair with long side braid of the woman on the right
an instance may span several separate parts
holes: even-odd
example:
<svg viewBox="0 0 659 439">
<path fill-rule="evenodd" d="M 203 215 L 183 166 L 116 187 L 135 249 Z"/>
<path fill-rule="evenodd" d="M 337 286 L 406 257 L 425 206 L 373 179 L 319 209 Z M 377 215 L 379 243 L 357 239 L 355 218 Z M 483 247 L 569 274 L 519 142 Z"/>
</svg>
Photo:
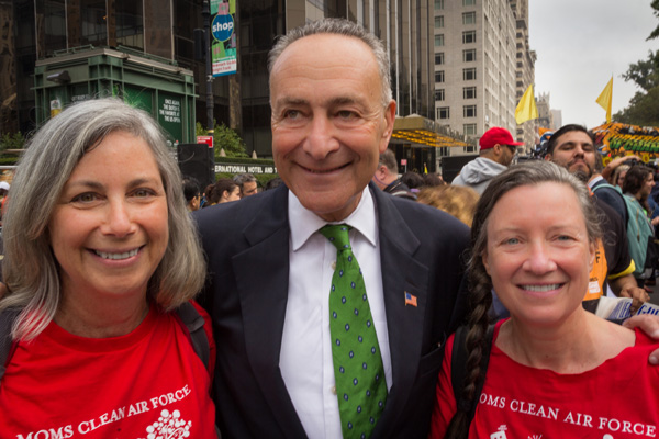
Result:
<svg viewBox="0 0 659 439">
<path fill-rule="evenodd" d="M 481 195 L 471 226 L 471 256 L 469 259 L 469 289 L 471 313 L 467 324 L 469 331 L 466 337 L 467 373 L 465 386 L 458 398 L 458 410 L 448 425 L 446 438 L 467 438 L 469 435 L 469 412 L 476 395 L 477 383 L 484 371 L 480 363 L 483 352 L 483 340 L 488 330 L 488 309 L 492 305 L 492 279 L 488 274 L 482 257 L 488 246 L 488 221 L 492 210 L 503 195 L 515 188 L 555 182 L 570 187 L 577 194 L 585 219 L 585 228 L 590 243 L 595 243 L 601 236 L 599 216 L 590 196 L 589 190 L 581 181 L 571 176 L 567 169 L 546 160 L 533 160 L 510 167 L 495 177 Z"/>
</svg>

